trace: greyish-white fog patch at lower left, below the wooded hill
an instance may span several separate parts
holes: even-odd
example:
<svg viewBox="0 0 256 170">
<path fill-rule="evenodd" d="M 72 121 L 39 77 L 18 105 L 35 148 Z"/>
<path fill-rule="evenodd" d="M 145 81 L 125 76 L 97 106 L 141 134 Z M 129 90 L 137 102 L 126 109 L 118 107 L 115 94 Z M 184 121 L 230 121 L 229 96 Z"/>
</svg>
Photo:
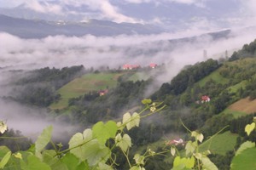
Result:
<svg viewBox="0 0 256 170">
<path fill-rule="evenodd" d="M 0 120 L 7 123 L 9 129 L 19 130 L 27 138 L 36 140 L 43 129 L 53 126 L 53 137 L 57 141 L 70 139 L 79 131 L 79 126 L 63 122 L 47 114 L 46 109 L 31 108 L 12 101 L 0 99 Z M 69 138 L 68 138 L 69 137 Z"/>
</svg>

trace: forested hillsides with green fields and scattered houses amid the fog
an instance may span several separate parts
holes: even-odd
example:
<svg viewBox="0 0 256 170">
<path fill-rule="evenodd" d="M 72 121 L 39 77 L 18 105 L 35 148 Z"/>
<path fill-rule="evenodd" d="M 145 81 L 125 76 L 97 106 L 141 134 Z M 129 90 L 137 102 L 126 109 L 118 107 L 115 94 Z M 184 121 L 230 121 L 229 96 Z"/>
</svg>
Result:
<svg viewBox="0 0 256 170">
<path fill-rule="evenodd" d="M 188 140 L 188 129 L 203 133 L 207 139 L 227 127 L 216 135 L 214 144 L 202 144 L 201 150 L 211 150 L 209 157 L 219 169 L 230 169 L 234 150 L 244 140 L 256 141 L 256 133 L 247 137 L 244 132 L 244 127 L 253 121 L 256 112 L 256 107 L 253 107 L 256 99 L 255 44 L 254 41 L 244 45 L 230 58 L 207 59 L 186 65 L 171 82 L 163 83 L 154 94 L 147 96 L 153 101 L 163 102 L 166 108 L 143 119 L 139 128 L 130 131 L 134 148 L 131 153 L 146 150 L 148 145 L 165 152 L 165 140 Z M 61 70 L 44 68 L 35 72 L 37 74 L 28 74 L 15 82 L 15 86 L 22 84 L 25 87 L 19 88 L 19 97 L 7 98 L 26 101 L 26 105 L 48 107 L 49 115 L 88 127 L 98 121 L 119 120 L 128 110 L 140 111 L 140 100 L 148 94 L 154 77 L 165 72 L 165 65 L 154 69 L 102 71 L 74 66 Z M 47 90 L 43 90 L 43 84 Z M 38 93 L 23 94 L 31 85 L 38 88 L 35 91 Z M 50 93 L 54 96 L 48 100 Z M 246 110 L 245 105 L 250 109 Z M 178 149 L 183 150 L 183 147 Z M 125 157 L 116 158 L 121 162 L 118 168 L 125 169 Z M 145 167 L 171 169 L 172 162 L 171 156 L 166 154 L 159 159 L 150 159 Z"/>
</svg>

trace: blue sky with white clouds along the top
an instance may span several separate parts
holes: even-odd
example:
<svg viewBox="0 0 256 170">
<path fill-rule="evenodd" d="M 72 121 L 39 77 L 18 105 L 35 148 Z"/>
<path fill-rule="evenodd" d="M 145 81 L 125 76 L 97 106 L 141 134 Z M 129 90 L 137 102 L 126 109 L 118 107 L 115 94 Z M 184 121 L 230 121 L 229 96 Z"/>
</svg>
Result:
<svg viewBox="0 0 256 170">
<path fill-rule="evenodd" d="M 79 15 L 84 20 L 112 20 L 159 26 L 191 23 L 228 27 L 256 23 L 254 0 L 0 0 L 0 8 L 25 8 L 40 14 Z M 44 5 L 42 4 L 44 3 Z"/>
</svg>

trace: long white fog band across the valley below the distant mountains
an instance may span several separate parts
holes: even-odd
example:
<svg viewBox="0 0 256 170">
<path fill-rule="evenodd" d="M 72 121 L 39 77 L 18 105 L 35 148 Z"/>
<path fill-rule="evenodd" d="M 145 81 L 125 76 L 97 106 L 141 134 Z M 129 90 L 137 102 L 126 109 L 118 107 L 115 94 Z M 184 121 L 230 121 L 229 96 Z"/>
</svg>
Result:
<svg viewBox="0 0 256 170">
<path fill-rule="evenodd" d="M 171 63 L 170 70 L 181 69 L 183 65 L 203 60 L 203 50 L 208 56 L 224 53 L 225 50 L 241 48 L 244 43 L 253 41 L 253 31 L 234 31 L 230 38 L 212 41 L 212 37 L 198 37 L 194 42 L 179 42 L 183 37 L 201 35 L 201 31 L 162 33 L 159 35 L 120 35 L 116 37 L 45 37 L 43 39 L 20 39 L 7 33 L 0 33 L 0 67 L 39 68 L 44 66 L 64 67 L 84 65 L 87 68 L 108 66 L 119 68 L 124 64 L 147 66 Z M 219 56 L 220 57 L 220 56 Z M 175 66 L 175 69 L 173 69 Z M 176 68 L 178 67 L 178 68 Z M 27 68 L 27 66 L 26 66 Z M 173 72 L 173 71 L 171 71 Z"/>
</svg>

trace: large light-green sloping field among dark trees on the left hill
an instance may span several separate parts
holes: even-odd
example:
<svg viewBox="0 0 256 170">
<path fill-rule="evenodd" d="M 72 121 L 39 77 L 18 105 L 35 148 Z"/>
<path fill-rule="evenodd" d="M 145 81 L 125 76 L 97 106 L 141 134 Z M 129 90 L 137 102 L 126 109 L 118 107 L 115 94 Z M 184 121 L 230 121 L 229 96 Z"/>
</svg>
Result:
<svg viewBox="0 0 256 170">
<path fill-rule="evenodd" d="M 113 88 L 117 79 L 123 73 L 90 73 L 74 79 L 58 90 L 61 100 L 49 106 L 51 110 L 64 109 L 68 106 L 68 99 L 77 98 L 90 91 Z"/>
</svg>

